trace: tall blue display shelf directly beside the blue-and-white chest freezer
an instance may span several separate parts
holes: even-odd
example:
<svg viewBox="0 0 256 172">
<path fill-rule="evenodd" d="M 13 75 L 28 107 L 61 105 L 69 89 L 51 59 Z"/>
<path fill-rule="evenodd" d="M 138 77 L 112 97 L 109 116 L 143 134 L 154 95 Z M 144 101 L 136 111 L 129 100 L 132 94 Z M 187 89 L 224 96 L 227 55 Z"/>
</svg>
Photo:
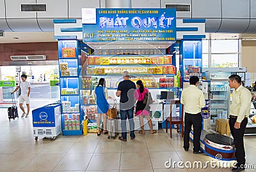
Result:
<svg viewBox="0 0 256 172">
<path fill-rule="evenodd" d="M 78 74 L 81 71 L 81 54 L 78 40 L 58 40 L 60 68 L 60 101 L 63 135 L 82 135 L 81 104 L 79 101 Z M 72 93 L 72 94 L 67 94 Z M 73 116 L 73 117 L 72 117 Z M 74 118 L 76 117 L 76 118 Z"/>
</svg>

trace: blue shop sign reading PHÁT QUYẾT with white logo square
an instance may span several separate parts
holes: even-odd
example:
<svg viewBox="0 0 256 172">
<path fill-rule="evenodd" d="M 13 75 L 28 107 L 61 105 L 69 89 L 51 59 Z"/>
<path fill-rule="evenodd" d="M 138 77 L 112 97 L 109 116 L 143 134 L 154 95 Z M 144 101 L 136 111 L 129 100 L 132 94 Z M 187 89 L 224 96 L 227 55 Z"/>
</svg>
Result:
<svg viewBox="0 0 256 172">
<path fill-rule="evenodd" d="M 176 10 L 84 8 L 83 41 L 176 41 Z"/>
</svg>

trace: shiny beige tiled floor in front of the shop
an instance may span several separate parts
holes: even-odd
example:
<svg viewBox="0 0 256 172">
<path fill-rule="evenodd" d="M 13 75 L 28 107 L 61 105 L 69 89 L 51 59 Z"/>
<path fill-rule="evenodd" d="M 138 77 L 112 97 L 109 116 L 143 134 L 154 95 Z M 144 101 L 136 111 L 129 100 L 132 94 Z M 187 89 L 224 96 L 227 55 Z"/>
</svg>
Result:
<svg viewBox="0 0 256 172">
<path fill-rule="evenodd" d="M 47 104 L 49 102 L 44 102 Z M 39 104 L 39 105 L 38 105 Z M 34 101 L 32 108 L 40 106 Z M 180 134 L 173 138 L 163 130 L 156 134 L 138 134 L 127 142 L 108 140 L 106 135 L 58 136 L 54 141 L 33 137 L 32 117 L 8 121 L 7 109 L 0 109 L 0 171 L 231 171 L 228 168 L 166 168 L 173 161 L 215 161 L 205 154 L 184 152 Z M 19 114 L 20 111 L 19 111 Z M 256 171 L 256 136 L 245 136 L 246 162 Z M 184 165 L 183 165 L 184 166 Z"/>
</svg>

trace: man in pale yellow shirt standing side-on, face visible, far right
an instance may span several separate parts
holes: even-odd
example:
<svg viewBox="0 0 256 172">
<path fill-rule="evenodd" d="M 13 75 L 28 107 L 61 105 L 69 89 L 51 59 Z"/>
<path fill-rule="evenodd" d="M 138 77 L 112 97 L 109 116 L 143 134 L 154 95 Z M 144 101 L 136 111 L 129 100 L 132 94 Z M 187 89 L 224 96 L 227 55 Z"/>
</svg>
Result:
<svg viewBox="0 0 256 172">
<path fill-rule="evenodd" d="M 229 126 L 236 146 L 237 164 L 232 171 L 243 171 L 245 164 L 244 130 L 250 115 L 252 95 L 241 85 L 239 75 L 230 75 L 228 83 L 230 88 L 234 89 L 230 104 Z"/>
</svg>

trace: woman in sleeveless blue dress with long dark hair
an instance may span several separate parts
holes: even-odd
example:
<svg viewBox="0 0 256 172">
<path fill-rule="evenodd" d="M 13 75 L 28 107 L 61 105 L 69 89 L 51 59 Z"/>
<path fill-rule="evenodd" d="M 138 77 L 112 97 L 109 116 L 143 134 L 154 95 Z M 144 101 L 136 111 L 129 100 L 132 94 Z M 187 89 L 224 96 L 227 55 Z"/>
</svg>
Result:
<svg viewBox="0 0 256 172">
<path fill-rule="evenodd" d="M 97 136 L 100 136 L 100 120 L 101 116 L 103 115 L 103 133 L 108 134 L 107 129 L 107 111 L 109 109 L 109 104 L 108 104 L 108 89 L 105 87 L 105 80 L 104 78 L 100 78 L 99 83 L 97 87 L 95 88 L 93 92 L 93 96 L 97 98 L 97 125 L 98 125 L 98 133 Z"/>
</svg>

